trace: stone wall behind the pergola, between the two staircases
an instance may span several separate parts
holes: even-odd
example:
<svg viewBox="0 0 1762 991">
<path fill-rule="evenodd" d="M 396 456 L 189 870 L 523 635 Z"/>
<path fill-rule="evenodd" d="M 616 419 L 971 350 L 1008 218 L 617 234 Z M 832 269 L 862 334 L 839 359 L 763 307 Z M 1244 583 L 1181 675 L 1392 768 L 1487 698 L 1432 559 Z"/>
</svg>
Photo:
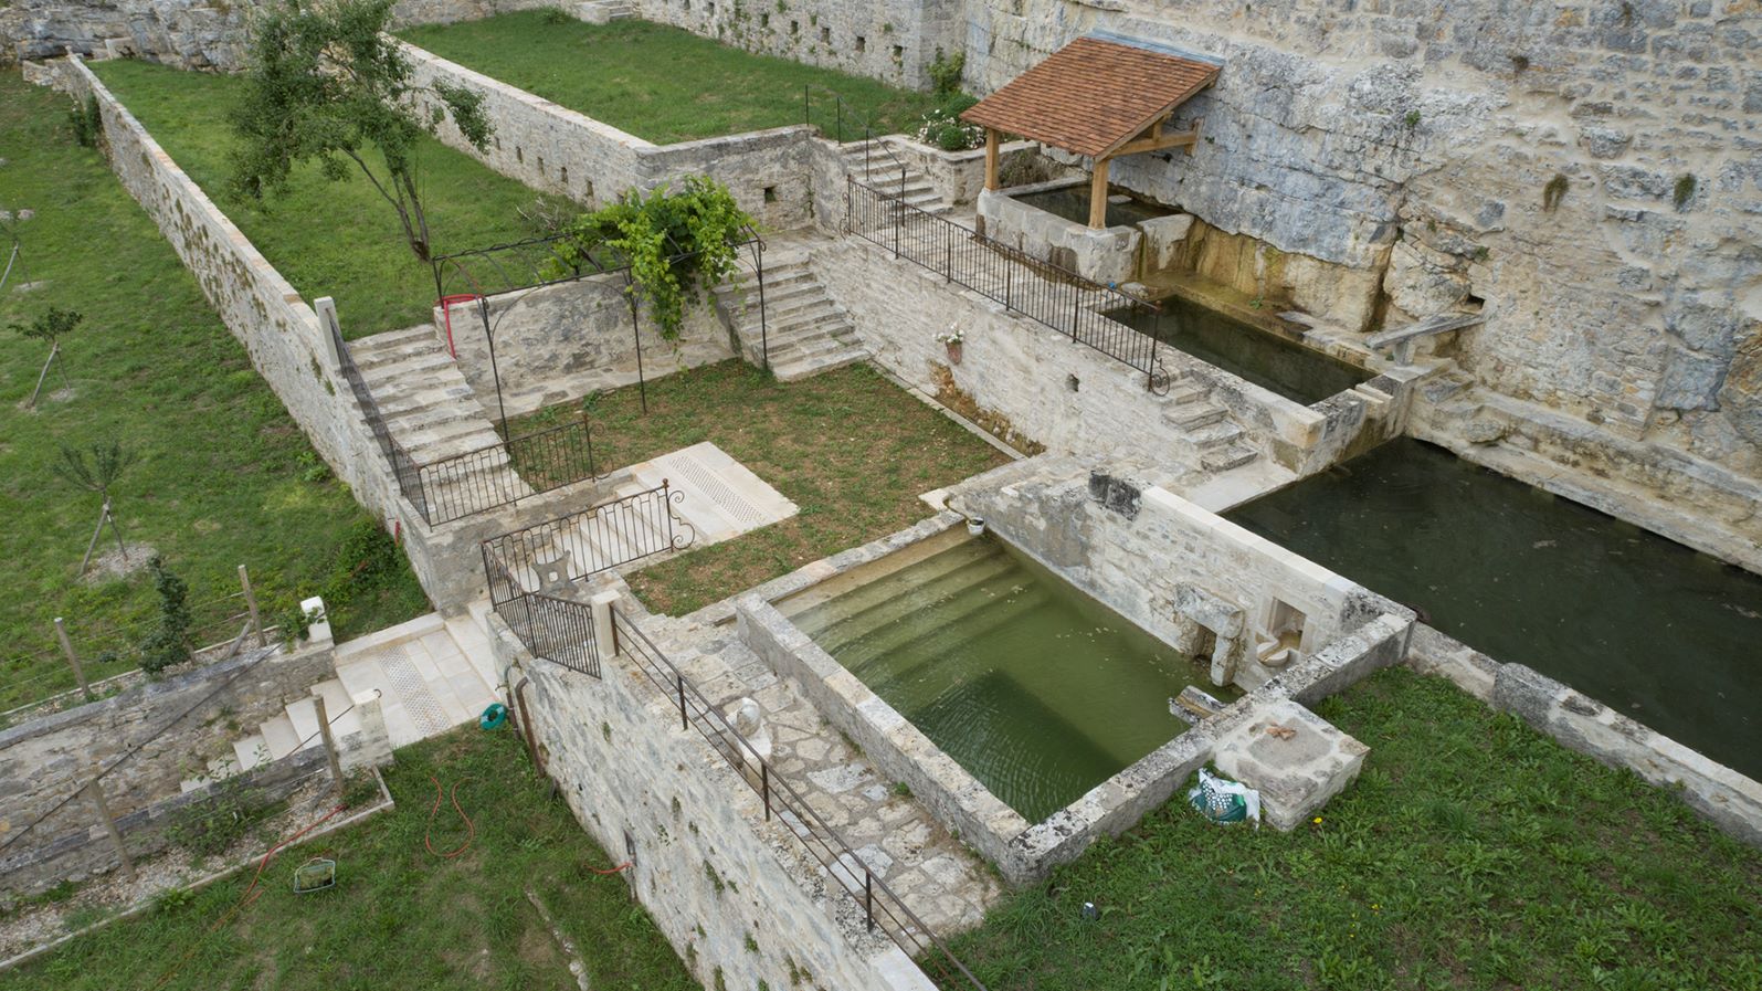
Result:
<svg viewBox="0 0 1762 991">
<path fill-rule="evenodd" d="M 478 402 L 495 413 L 495 374 L 479 307 L 467 302 L 451 310 L 458 369 Z M 622 275 L 597 275 L 495 296 L 490 300 L 490 326 L 495 328 L 495 369 L 502 376 L 500 400 L 509 416 L 634 384 L 638 339 L 641 374 L 650 381 L 735 356 L 728 328 L 708 300 L 685 310 L 677 340 L 661 337 L 647 307 L 638 309 L 633 332 Z M 439 309 L 435 328 L 444 342 Z"/>
</svg>

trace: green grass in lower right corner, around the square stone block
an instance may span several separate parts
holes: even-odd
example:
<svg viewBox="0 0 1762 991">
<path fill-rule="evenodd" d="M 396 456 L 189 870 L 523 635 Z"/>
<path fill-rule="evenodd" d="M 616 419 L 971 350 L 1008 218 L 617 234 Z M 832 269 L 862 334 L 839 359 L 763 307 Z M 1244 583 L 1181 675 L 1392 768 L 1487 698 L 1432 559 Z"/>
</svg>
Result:
<svg viewBox="0 0 1762 991">
<path fill-rule="evenodd" d="M 1022 989 L 1762 987 L 1762 853 L 1674 795 L 1403 668 L 1320 712 L 1371 746 L 1320 823 L 1182 795 L 957 954 Z"/>
</svg>

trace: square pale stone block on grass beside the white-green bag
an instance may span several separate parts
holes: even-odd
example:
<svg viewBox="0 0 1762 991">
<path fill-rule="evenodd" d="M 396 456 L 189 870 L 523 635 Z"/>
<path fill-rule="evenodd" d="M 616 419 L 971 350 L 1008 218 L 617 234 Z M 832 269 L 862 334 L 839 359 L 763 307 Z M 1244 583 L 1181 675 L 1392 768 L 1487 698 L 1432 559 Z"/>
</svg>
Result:
<svg viewBox="0 0 1762 991">
<path fill-rule="evenodd" d="M 1274 829 L 1292 831 L 1359 776 L 1369 749 L 1281 698 L 1225 730 L 1212 764 L 1260 792 L 1262 815 Z"/>
</svg>

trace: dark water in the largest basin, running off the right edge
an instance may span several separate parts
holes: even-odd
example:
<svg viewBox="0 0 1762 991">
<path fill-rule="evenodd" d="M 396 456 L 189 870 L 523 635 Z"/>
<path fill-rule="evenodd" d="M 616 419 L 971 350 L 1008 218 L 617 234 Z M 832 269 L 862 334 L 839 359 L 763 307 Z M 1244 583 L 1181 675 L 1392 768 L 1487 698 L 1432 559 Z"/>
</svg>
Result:
<svg viewBox="0 0 1762 991">
<path fill-rule="evenodd" d="M 1226 517 L 1762 779 L 1762 577 L 1408 439 Z"/>
</svg>

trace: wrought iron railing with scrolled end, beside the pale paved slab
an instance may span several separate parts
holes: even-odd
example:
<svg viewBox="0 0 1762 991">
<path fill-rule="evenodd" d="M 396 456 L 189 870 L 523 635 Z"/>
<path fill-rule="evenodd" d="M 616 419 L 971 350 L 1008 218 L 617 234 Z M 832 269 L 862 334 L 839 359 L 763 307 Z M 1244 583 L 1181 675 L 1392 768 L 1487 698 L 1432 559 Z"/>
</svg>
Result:
<svg viewBox="0 0 1762 991">
<path fill-rule="evenodd" d="M 592 608 L 552 594 L 599 571 L 691 547 L 696 531 L 673 515 L 685 494 L 666 480 L 483 541 L 490 605 L 536 658 L 599 677 Z"/>
</svg>

